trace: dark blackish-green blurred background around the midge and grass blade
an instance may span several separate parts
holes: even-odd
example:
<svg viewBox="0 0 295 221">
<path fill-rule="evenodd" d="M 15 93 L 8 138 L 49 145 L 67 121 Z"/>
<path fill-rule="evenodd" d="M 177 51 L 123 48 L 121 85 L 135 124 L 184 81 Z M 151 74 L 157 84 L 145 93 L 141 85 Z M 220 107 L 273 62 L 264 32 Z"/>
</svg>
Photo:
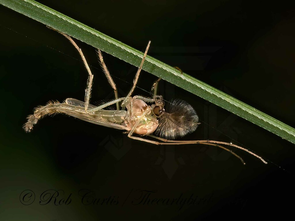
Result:
<svg viewBox="0 0 295 221">
<path fill-rule="evenodd" d="M 39 1 L 294 127 L 295 10 L 283 1 Z M 294 144 L 167 82 L 166 100 L 194 106 L 201 125 L 186 139 L 233 142 L 268 160 L 235 150 L 246 165 L 217 147 L 160 147 L 64 115 L 41 120 L 27 134 L 26 116 L 48 100 L 83 100 L 87 72 L 60 34 L 0 6 L 1 220 L 202 220 L 293 215 Z M 92 101 L 112 99 L 95 50 L 82 48 L 94 74 Z M 104 54 L 119 94 L 128 93 L 136 67 Z M 154 75 L 138 86 L 150 90 Z M 129 83 L 128 83 L 129 82 Z M 135 94 L 149 96 L 137 88 Z M 19 196 L 30 189 L 31 205 Z M 41 202 L 48 189 L 71 203 Z M 80 189 L 117 205 L 83 205 Z M 141 190 L 157 198 L 198 197 L 195 205 L 137 204 Z M 52 193 L 52 192 L 51 192 Z M 130 195 L 129 195 L 130 194 Z M 127 196 L 129 197 L 127 198 Z M 49 195 L 47 195 L 48 197 Z M 46 198 L 46 197 L 45 197 Z M 125 199 L 126 202 L 124 203 Z M 32 201 L 30 201 L 32 202 Z M 133 202 L 133 203 L 132 203 Z M 198 203 L 199 202 L 199 203 Z M 123 204 L 124 203 L 124 204 Z"/>
</svg>

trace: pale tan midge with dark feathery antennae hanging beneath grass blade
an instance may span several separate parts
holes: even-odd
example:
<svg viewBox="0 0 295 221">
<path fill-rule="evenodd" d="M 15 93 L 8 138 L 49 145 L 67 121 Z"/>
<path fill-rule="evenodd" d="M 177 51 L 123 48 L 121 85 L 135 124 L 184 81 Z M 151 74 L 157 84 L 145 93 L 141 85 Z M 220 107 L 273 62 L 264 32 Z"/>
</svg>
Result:
<svg viewBox="0 0 295 221">
<path fill-rule="evenodd" d="M 217 146 L 226 151 L 229 151 L 234 156 L 239 158 L 243 164 L 245 164 L 240 156 L 225 148 L 224 146 L 220 146 L 220 144 L 233 146 L 247 151 L 253 156 L 259 158 L 261 161 L 263 161 L 263 163 L 267 164 L 267 162 L 260 156 L 254 154 L 248 149 L 242 148 L 232 143 L 211 140 L 177 141 L 176 139 L 184 137 L 188 133 L 192 133 L 196 130 L 199 124 L 199 117 L 196 114 L 194 108 L 183 100 L 172 100 L 165 107 L 163 97 L 161 95 L 157 95 L 157 86 L 160 78 L 153 84 L 152 98 L 143 96 L 132 97 L 132 93 L 136 87 L 143 62 L 150 47 L 150 42 L 148 42 L 148 46 L 143 55 L 140 67 L 138 68 L 135 75 L 133 86 L 127 96 L 123 98 L 118 98 L 116 84 L 114 83 L 114 80 L 112 79 L 109 70 L 104 63 L 101 51 L 99 49 L 97 50 L 99 62 L 102 69 L 104 70 L 104 74 L 106 75 L 111 87 L 114 89 L 115 99 L 99 106 L 91 105 L 89 103 L 93 81 L 91 70 L 81 49 L 77 46 L 73 39 L 67 34 L 62 32 L 59 33 L 69 39 L 74 47 L 78 50 L 88 71 L 89 77 L 87 88 L 85 90 L 85 101 L 83 102 L 73 98 L 67 98 L 63 103 L 50 101 L 45 106 L 39 106 L 35 108 L 34 113 L 27 117 L 27 123 L 25 123 L 23 126 L 26 132 L 30 132 L 38 120 L 46 115 L 65 113 L 90 123 L 129 131 L 129 138 L 151 144 L 206 144 Z M 114 104 L 116 104 L 117 110 L 105 109 Z M 134 134 L 141 136 L 134 136 Z"/>
</svg>

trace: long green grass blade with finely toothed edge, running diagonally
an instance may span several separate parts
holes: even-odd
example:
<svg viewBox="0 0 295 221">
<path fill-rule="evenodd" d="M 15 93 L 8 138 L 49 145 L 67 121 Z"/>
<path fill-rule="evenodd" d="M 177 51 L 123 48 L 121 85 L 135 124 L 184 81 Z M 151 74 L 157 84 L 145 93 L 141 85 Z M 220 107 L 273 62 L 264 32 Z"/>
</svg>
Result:
<svg viewBox="0 0 295 221">
<path fill-rule="evenodd" d="M 143 53 L 74 19 L 32 0 L 0 0 L 0 3 L 43 24 L 139 67 Z M 143 70 L 161 77 L 295 144 L 294 128 L 211 87 L 175 68 L 147 56 Z"/>
</svg>

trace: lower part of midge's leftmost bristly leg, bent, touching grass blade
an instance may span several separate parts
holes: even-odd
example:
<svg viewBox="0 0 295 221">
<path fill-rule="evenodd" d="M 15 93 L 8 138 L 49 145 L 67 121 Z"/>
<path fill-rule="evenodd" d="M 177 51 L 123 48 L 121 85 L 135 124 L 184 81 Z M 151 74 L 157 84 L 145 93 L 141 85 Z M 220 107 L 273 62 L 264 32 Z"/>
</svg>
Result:
<svg viewBox="0 0 295 221">
<path fill-rule="evenodd" d="M 51 27 L 49 27 L 49 28 L 51 28 Z M 53 28 L 51 28 L 51 29 L 53 29 Z M 82 53 L 82 50 L 78 47 L 76 42 L 74 42 L 73 39 L 70 36 L 68 36 L 67 34 L 65 34 L 63 32 L 60 32 L 60 31 L 58 31 L 56 29 L 53 29 L 53 30 L 55 30 L 58 33 L 65 36 L 73 44 L 73 46 L 78 50 L 78 52 L 79 52 L 79 54 L 80 54 L 80 56 L 81 56 L 81 58 L 83 60 L 83 63 L 84 63 L 84 65 L 85 65 L 85 67 L 86 67 L 86 69 L 88 71 L 89 77 L 88 77 L 88 80 L 87 80 L 87 88 L 85 90 L 85 111 L 87 111 L 88 105 L 89 105 L 89 102 L 90 102 L 91 88 L 92 88 L 92 82 L 93 82 L 93 75 L 91 73 L 91 70 L 90 70 L 90 68 L 89 68 L 89 66 L 88 66 L 88 64 L 86 62 L 86 59 L 85 59 L 85 57 L 84 57 L 84 55 Z"/>
</svg>

